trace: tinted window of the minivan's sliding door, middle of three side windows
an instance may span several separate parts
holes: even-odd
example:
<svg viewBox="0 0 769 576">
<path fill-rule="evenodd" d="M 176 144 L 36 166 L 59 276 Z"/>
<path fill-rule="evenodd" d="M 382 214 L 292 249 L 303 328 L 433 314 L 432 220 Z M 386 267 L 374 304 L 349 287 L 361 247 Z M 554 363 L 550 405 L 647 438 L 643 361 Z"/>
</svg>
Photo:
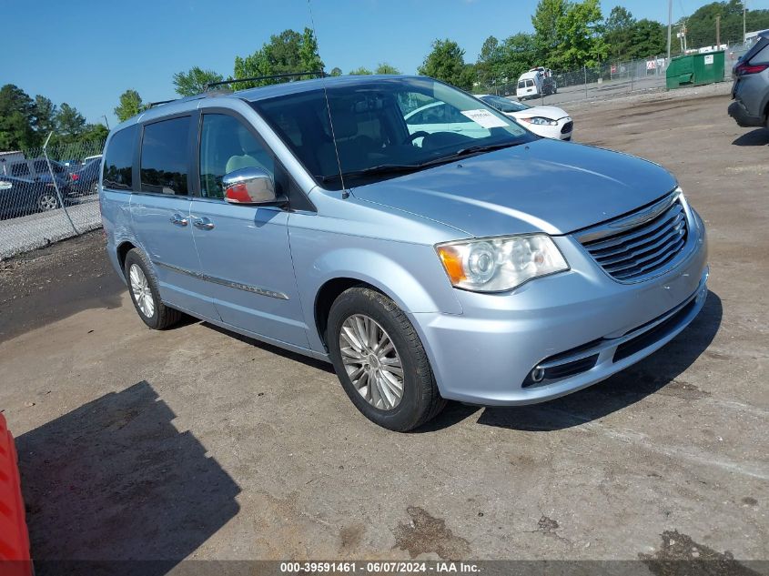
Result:
<svg viewBox="0 0 769 576">
<path fill-rule="evenodd" d="M 142 192 L 187 196 L 190 116 L 144 127 L 141 151 Z"/>
</svg>

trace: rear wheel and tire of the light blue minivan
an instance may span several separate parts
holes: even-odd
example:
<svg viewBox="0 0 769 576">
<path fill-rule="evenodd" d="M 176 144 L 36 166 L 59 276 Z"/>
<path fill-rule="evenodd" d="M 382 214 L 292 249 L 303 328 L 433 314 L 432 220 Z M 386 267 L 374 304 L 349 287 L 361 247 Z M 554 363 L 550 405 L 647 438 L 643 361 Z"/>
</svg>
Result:
<svg viewBox="0 0 769 576">
<path fill-rule="evenodd" d="M 160 299 L 157 278 L 144 252 L 137 248 L 129 250 L 123 271 L 134 308 L 137 309 L 139 318 L 149 328 L 153 330 L 170 328 L 182 318 L 181 312 L 166 306 Z M 151 300 L 147 299 L 148 297 Z"/>
</svg>

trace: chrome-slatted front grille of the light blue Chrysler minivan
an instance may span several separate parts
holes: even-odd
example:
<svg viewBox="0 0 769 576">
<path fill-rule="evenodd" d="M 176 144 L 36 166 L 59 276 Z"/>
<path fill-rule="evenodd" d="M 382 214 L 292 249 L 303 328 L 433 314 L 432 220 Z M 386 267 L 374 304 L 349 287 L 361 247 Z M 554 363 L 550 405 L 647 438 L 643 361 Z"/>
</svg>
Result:
<svg viewBox="0 0 769 576">
<path fill-rule="evenodd" d="M 679 198 L 637 227 L 582 246 L 612 278 L 626 282 L 665 271 L 685 246 L 687 236 L 686 213 Z"/>
</svg>

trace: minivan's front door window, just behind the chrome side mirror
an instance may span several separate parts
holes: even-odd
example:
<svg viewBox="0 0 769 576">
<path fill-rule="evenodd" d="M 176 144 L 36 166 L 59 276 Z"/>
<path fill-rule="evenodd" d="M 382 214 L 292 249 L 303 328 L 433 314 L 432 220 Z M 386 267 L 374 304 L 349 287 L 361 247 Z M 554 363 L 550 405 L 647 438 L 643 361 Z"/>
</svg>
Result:
<svg viewBox="0 0 769 576">
<path fill-rule="evenodd" d="M 203 115 L 200 133 L 200 195 L 223 198 L 222 177 L 240 168 L 257 167 L 275 174 L 272 154 L 234 116 Z"/>
</svg>

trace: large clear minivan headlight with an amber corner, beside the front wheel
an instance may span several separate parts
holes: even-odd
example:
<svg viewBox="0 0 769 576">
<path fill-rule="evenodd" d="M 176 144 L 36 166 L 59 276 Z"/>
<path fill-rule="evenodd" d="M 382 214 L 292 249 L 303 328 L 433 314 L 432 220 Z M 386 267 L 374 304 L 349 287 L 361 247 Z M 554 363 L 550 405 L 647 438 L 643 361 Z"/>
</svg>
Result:
<svg viewBox="0 0 769 576">
<path fill-rule="evenodd" d="M 447 242 L 435 247 L 451 285 L 474 292 L 501 292 L 568 270 L 547 234 Z"/>
</svg>

